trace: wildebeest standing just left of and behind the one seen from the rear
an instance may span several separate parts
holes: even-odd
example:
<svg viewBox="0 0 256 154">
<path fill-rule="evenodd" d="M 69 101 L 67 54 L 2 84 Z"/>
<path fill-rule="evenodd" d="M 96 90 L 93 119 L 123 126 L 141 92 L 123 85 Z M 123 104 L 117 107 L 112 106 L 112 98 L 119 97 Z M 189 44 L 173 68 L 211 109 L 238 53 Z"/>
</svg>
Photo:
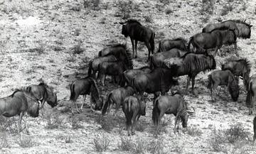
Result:
<svg viewBox="0 0 256 154">
<path fill-rule="evenodd" d="M 122 102 L 124 101 L 125 97 L 132 96 L 134 93 L 134 89 L 129 86 L 119 87 L 112 90 L 109 94 L 107 94 L 107 100 L 103 106 L 102 115 L 105 115 L 106 112 L 107 114 L 110 114 L 110 110 L 114 104 L 116 104 L 116 110 L 114 112 L 114 114 L 116 114 L 120 106 L 122 106 Z"/>
</svg>

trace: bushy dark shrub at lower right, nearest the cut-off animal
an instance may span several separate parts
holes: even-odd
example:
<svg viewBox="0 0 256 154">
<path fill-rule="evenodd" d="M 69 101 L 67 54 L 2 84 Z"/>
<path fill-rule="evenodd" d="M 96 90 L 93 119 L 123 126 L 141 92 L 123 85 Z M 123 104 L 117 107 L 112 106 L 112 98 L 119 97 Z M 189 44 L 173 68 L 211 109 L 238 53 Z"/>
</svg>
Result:
<svg viewBox="0 0 256 154">
<path fill-rule="evenodd" d="M 245 127 L 242 126 L 242 123 L 237 123 L 225 130 L 225 136 L 230 143 L 235 143 L 235 141 L 245 139 L 247 137 L 247 132 L 245 131 Z"/>
</svg>

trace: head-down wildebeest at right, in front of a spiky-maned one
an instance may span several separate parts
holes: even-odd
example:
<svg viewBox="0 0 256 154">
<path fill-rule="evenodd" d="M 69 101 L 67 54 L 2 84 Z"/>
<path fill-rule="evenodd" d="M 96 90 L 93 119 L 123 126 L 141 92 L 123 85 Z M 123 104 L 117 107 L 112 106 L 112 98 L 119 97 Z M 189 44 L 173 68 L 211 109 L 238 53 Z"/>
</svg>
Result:
<svg viewBox="0 0 256 154">
<path fill-rule="evenodd" d="M 212 100 L 216 99 L 216 89 L 218 85 L 225 85 L 228 87 L 233 101 L 238 101 L 239 86 L 238 79 L 230 72 L 230 70 L 215 70 L 208 75 L 208 89 L 210 89 Z"/>
</svg>

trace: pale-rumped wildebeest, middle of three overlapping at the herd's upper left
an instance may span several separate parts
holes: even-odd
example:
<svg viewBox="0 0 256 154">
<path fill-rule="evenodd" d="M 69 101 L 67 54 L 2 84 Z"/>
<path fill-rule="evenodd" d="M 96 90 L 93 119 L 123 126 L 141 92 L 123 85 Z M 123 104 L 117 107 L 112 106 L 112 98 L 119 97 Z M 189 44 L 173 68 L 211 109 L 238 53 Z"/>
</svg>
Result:
<svg viewBox="0 0 256 154">
<path fill-rule="evenodd" d="M 105 55 L 102 57 L 95 57 L 89 62 L 87 75 L 92 76 L 94 79 L 96 79 L 96 72 L 99 70 L 99 65 L 102 62 L 113 62 L 113 61 L 117 61 L 117 57 L 115 57 L 114 55 Z"/>
</svg>

